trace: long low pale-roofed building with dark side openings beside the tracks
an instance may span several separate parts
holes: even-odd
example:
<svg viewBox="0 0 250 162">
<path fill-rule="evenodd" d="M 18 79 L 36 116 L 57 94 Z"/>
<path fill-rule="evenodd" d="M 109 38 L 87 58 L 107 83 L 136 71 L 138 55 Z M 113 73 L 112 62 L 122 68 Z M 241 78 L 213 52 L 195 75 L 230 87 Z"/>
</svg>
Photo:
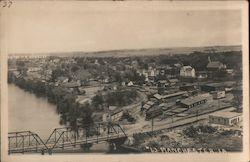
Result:
<svg viewBox="0 0 250 162">
<path fill-rule="evenodd" d="M 180 104 L 186 108 L 192 108 L 201 104 L 205 104 L 208 101 L 207 97 L 198 95 L 194 97 L 188 97 L 180 101 Z"/>
</svg>

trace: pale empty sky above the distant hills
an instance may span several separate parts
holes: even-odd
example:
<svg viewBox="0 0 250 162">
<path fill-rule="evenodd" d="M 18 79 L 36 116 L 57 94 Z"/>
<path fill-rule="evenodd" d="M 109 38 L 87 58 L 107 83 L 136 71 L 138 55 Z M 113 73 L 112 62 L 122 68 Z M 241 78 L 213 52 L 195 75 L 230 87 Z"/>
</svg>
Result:
<svg viewBox="0 0 250 162">
<path fill-rule="evenodd" d="M 20 3 L 8 11 L 9 53 L 241 44 L 239 10 L 31 6 Z"/>
</svg>

